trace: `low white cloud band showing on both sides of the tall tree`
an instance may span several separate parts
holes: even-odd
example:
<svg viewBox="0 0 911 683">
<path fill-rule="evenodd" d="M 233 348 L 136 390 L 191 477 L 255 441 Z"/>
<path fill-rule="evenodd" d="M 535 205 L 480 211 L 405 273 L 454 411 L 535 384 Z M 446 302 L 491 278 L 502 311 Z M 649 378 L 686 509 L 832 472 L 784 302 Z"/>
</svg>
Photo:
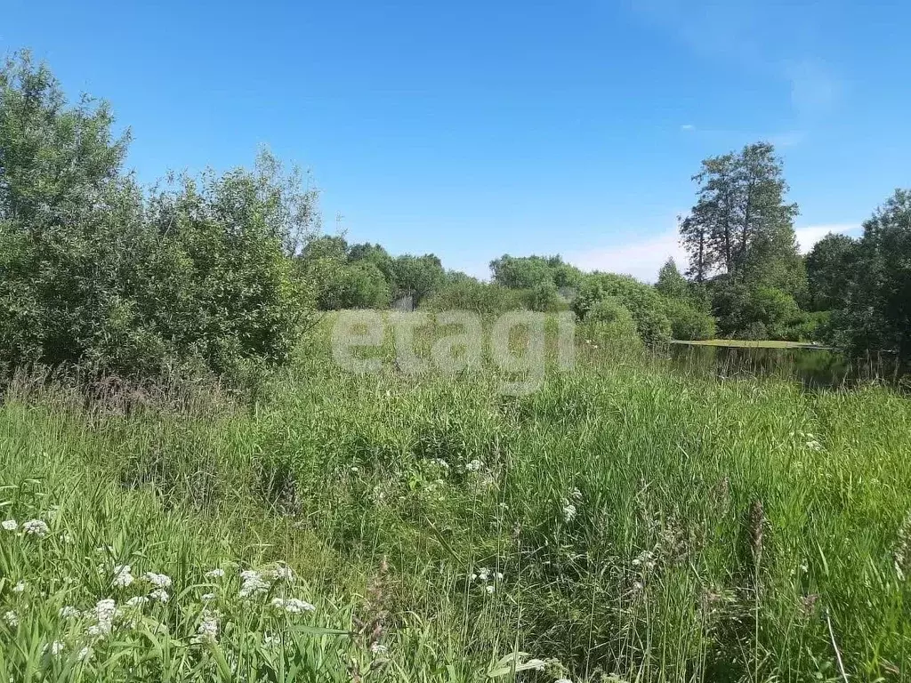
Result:
<svg viewBox="0 0 911 683">
<path fill-rule="evenodd" d="M 809 225 L 798 228 L 794 232 L 801 253 L 805 254 L 830 232 L 856 234 L 858 230 L 859 226 L 854 223 L 834 223 L 832 225 Z M 689 263 L 676 230 L 669 230 L 643 240 L 612 247 L 599 247 L 569 253 L 566 259 L 582 270 L 623 273 L 646 282 L 654 282 L 658 279 L 658 271 L 668 259 L 677 261 L 677 266 L 681 270 L 686 270 Z"/>
</svg>

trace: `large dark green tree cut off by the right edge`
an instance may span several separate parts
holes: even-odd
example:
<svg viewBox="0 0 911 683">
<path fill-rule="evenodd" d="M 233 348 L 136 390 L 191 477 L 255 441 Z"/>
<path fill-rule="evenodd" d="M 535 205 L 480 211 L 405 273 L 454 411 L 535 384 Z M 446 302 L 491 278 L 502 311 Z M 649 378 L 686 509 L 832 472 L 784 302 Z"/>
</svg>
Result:
<svg viewBox="0 0 911 683">
<path fill-rule="evenodd" d="M 897 189 L 865 221 L 834 342 L 853 352 L 895 352 L 911 361 L 911 190 Z"/>
</svg>

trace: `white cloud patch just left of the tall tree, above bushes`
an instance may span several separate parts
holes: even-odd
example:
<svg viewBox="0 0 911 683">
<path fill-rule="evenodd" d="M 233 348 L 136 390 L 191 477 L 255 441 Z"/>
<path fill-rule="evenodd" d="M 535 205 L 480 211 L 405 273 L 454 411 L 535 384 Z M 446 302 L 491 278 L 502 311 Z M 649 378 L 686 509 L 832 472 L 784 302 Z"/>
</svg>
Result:
<svg viewBox="0 0 911 683">
<path fill-rule="evenodd" d="M 647 282 L 658 279 L 658 271 L 669 258 L 676 260 L 681 270 L 687 266 L 687 255 L 680 246 L 677 230 L 615 247 L 571 253 L 566 258 L 582 270 L 623 273 Z"/>
</svg>

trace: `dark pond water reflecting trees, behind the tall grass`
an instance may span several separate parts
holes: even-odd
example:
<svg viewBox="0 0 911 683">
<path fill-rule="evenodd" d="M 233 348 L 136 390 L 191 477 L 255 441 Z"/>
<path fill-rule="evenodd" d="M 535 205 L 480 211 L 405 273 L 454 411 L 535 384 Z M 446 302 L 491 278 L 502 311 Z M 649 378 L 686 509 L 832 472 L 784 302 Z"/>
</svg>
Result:
<svg viewBox="0 0 911 683">
<path fill-rule="evenodd" d="M 678 371 L 711 374 L 722 379 L 781 377 L 802 382 L 807 388 L 855 386 L 861 382 L 897 382 L 896 363 L 887 356 L 849 361 L 839 352 L 804 347 L 757 347 L 670 344 L 671 365 Z"/>
</svg>

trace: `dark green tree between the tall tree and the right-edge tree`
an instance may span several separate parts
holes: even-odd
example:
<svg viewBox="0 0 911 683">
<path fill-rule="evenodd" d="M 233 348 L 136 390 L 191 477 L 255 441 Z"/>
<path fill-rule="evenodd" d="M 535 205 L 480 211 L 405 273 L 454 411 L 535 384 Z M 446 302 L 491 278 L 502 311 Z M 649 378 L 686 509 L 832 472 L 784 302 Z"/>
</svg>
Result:
<svg viewBox="0 0 911 683">
<path fill-rule="evenodd" d="M 807 280 L 814 311 L 844 308 L 855 275 L 857 248 L 857 240 L 830 232 L 807 254 Z"/>
</svg>

